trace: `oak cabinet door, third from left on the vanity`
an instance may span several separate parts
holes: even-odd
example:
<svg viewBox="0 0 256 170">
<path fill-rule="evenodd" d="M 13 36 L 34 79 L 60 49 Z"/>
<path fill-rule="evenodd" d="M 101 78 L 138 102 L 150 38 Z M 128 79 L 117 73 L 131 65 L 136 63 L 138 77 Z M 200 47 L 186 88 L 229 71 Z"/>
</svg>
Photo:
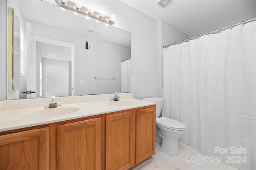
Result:
<svg viewBox="0 0 256 170">
<path fill-rule="evenodd" d="M 133 111 L 106 116 L 106 170 L 128 169 L 135 164 Z"/>
</svg>

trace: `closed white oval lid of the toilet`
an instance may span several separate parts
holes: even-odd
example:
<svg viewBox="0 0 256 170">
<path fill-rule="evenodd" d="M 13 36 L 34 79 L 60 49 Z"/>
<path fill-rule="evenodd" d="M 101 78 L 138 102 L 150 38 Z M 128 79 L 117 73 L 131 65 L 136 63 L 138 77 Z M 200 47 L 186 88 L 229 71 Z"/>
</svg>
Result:
<svg viewBox="0 0 256 170">
<path fill-rule="evenodd" d="M 156 119 L 156 124 L 159 126 L 165 127 L 167 129 L 173 129 L 178 131 L 184 131 L 186 130 L 186 125 L 183 123 L 176 121 L 174 119 L 170 119 L 167 117 L 160 117 Z"/>
</svg>

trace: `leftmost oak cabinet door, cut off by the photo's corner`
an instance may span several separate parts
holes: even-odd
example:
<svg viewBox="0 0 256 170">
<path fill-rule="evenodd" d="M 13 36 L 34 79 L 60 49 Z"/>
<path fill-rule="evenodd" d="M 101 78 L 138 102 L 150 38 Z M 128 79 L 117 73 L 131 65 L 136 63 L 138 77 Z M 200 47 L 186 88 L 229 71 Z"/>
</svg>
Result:
<svg viewBox="0 0 256 170">
<path fill-rule="evenodd" d="M 1 170 L 48 170 L 49 128 L 0 136 Z"/>
</svg>

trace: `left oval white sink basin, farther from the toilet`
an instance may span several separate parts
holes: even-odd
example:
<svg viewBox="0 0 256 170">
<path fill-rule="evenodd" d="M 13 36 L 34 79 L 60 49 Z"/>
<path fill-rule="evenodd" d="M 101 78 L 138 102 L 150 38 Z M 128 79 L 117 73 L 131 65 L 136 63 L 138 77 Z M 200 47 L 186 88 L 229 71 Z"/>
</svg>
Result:
<svg viewBox="0 0 256 170">
<path fill-rule="evenodd" d="M 50 117 L 67 115 L 67 114 L 74 113 L 76 111 L 79 111 L 79 109 L 74 107 L 56 107 L 56 108 L 29 112 L 23 115 L 23 117 L 31 118 L 31 119 L 42 119 L 42 118 L 50 118 Z"/>
</svg>

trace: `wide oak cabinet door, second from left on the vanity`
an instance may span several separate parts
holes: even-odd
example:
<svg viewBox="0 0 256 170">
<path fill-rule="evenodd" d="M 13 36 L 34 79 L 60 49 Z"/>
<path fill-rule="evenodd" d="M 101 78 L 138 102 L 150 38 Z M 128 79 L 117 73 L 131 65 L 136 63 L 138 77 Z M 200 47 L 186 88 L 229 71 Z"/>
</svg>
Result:
<svg viewBox="0 0 256 170">
<path fill-rule="evenodd" d="M 101 118 L 57 126 L 58 170 L 101 170 Z"/>
</svg>

